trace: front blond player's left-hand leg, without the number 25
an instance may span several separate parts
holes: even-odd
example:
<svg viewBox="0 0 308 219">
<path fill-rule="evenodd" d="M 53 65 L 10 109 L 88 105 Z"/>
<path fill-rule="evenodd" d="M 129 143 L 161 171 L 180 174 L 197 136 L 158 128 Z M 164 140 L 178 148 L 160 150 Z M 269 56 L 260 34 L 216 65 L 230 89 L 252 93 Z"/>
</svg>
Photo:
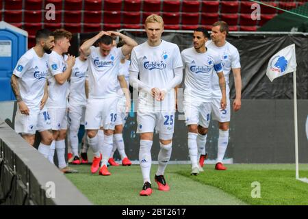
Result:
<svg viewBox="0 0 308 219">
<path fill-rule="evenodd" d="M 152 165 L 151 148 L 153 144 L 155 120 L 155 114 L 151 112 L 137 112 L 137 133 L 140 133 L 139 162 L 143 178 L 142 190 L 139 193 L 140 196 L 150 196 L 152 194 L 150 172 Z"/>
</svg>

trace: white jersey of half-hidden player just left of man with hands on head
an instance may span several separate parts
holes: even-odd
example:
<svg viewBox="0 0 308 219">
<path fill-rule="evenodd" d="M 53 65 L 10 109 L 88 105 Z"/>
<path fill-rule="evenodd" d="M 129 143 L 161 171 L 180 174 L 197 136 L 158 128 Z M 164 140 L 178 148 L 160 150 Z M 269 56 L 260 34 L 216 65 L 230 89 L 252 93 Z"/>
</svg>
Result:
<svg viewBox="0 0 308 219">
<path fill-rule="evenodd" d="M 88 70 L 88 62 L 81 61 L 79 57 L 76 58 L 75 65 L 70 75 L 68 101 L 73 105 L 86 105 L 86 73 Z"/>
</svg>

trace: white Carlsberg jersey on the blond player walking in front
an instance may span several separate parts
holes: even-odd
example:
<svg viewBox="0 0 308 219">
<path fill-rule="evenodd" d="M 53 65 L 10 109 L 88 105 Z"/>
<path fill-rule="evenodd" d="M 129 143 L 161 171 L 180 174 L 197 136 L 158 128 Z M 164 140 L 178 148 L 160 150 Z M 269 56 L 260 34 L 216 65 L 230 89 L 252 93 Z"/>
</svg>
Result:
<svg viewBox="0 0 308 219">
<path fill-rule="evenodd" d="M 129 71 L 138 72 L 140 81 L 151 88 L 166 88 L 175 77 L 174 68 L 183 66 L 181 53 L 177 44 L 162 42 L 157 47 L 144 42 L 133 48 L 131 52 L 131 66 Z M 170 90 L 164 101 L 156 101 L 151 94 L 140 90 L 138 108 L 144 110 L 174 110 L 175 90 Z"/>
</svg>

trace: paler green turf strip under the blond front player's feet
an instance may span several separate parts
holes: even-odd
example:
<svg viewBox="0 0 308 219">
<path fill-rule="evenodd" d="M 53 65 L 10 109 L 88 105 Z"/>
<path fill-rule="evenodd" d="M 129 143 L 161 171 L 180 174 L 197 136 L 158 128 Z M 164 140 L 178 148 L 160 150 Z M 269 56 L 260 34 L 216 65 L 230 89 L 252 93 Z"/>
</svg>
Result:
<svg viewBox="0 0 308 219">
<path fill-rule="evenodd" d="M 190 172 L 190 165 L 168 165 L 165 172 L 169 192 L 157 190 L 154 181 L 157 165 L 152 165 L 151 181 L 153 194 L 139 196 L 142 189 L 142 175 L 139 165 L 110 166 L 111 176 L 90 173 L 90 165 L 70 167 L 78 174 L 66 175 L 76 187 L 95 205 L 245 205 L 238 198 L 218 188 L 198 183 L 176 172 L 184 169 Z M 185 172 L 183 172 L 185 173 Z"/>
</svg>

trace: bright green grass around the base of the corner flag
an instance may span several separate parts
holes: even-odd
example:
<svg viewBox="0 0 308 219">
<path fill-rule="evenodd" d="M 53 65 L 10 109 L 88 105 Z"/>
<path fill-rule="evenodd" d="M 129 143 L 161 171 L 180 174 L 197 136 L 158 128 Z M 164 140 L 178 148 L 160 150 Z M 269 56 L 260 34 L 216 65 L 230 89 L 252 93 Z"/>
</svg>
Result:
<svg viewBox="0 0 308 219">
<path fill-rule="evenodd" d="M 290 164 L 233 164 L 228 170 L 214 170 L 205 165 L 205 172 L 190 176 L 189 168 L 178 171 L 180 175 L 205 185 L 220 188 L 251 205 L 308 205 L 308 183 L 295 179 L 295 165 Z M 308 177 L 308 165 L 300 165 L 300 177 Z M 261 185 L 261 198 L 252 198 L 255 187 Z"/>
</svg>

